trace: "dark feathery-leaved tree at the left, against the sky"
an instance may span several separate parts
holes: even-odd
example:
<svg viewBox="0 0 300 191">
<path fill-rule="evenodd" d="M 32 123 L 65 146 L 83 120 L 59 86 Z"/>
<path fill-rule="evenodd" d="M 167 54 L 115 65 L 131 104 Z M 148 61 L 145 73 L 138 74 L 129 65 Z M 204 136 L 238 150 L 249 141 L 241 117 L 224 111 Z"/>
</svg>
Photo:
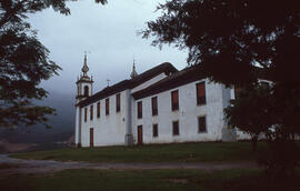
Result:
<svg viewBox="0 0 300 191">
<path fill-rule="evenodd" d="M 0 127 L 38 122 L 47 125 L 46 115 L 54 113 L 50 107 L 36 105 L 32 100 L 47 97 L 39 84 L 61 68 L 49 59 L 49 50 L 26 19 L 28 13 L 50 7 L 68 16 L 67 1 L 0 0 Z M 103 4 L 107 0 L 96 2 Z"/>
</svg>

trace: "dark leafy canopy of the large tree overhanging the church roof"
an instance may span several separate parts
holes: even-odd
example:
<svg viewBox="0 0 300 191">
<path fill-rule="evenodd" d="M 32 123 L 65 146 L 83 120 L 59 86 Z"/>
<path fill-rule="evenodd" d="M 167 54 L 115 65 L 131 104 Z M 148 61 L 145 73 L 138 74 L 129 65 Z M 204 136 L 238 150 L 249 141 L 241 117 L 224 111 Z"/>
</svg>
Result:
<svg viewBox="0 0 300 191">
<path fill-rule="evenodd" d="M 300 81 L 299 1 L 169 0 L 158 10 L 162 16 L 148 22 L 143 38 L 188 48 L 188 62 L 201 62 L 214 80 L 248 82 L 260 66 L 270 80 Z"/>
</svg>

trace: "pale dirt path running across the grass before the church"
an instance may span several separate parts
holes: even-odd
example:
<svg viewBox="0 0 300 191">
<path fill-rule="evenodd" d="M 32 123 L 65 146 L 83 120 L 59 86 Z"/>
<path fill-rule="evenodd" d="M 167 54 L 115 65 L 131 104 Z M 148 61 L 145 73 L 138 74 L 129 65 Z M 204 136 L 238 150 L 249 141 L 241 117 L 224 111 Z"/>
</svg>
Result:
<svg viewBox="0 0 300 191">
<path fill-rule="evenodd" d="M 52 160 L 22 160 L 0 154 L 0 164 L 9 164 L 9 169 L 0 168 L 2 175 L 19 173 L 49 173 L 64 169 L 116 169 L 116 170 L 147 170 L 147 169 L 253 169 L 259 168 L 254 162 L 197 162 L 197 163 L 89 163 L 89 162 L 59 162 Z"/>
</svg>

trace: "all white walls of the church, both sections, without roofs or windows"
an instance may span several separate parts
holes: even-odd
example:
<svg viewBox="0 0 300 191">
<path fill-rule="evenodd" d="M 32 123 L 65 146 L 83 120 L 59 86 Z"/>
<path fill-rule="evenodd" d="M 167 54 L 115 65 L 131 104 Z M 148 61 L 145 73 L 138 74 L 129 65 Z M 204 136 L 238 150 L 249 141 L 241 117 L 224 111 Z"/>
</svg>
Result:
<svg viewBox="0 0 300 191">
<path fill-rule="evenodd" d="M 97 102 L 93 104 L 93 119 L 90 120 L 90 105 L 77 107 L 76 143 L 90 147 L 90 129 L 93 128 L 93 145 L 124 145 L 126 135 L 132 132 L 138 143 L 138 125 L 142 125 L 143 143 L 171 143 L 189 141 L 220 141 L 222 129 L 227 128 L 223 109 L 234 99 L 233 89 L 210 82 L 208 79 L 193 81 L 178 88 L 160 92 L 140 100 L 131 94 L 166 78 L 164 73 L 144 83 L 120 92 L 120 112 L 116 107 L 116 94 L 109 98 L 109 115 L 106 115 L 106 99 L 100 100 L 100 118 L 97 118 Z M 206 81 L 206 104 L 197 105 L 197 83 Z M 90 87 L 92 88 L 92 87 Z M 179 91 L 179 110 L 171 109 L 171 92 Z M 158 98 L 158 115 L 152 117 L 151 98 Z M 137 104 L 142 101 L 142 119 L 137 118 Z M 130 104 L 130 105 L 129 105 Z M 87 108 L 87 122 L 84 122 Z M 206 117 L 207 131 L 199 132 L 198 118 Z M 173 135 L 172 122 L 179 121 L 179 135 Z M 158 137 L 153 138 L 153 124 L 158 124 Z M 237 131 L 237 139 L 249 139 Z"/>
</svg>

